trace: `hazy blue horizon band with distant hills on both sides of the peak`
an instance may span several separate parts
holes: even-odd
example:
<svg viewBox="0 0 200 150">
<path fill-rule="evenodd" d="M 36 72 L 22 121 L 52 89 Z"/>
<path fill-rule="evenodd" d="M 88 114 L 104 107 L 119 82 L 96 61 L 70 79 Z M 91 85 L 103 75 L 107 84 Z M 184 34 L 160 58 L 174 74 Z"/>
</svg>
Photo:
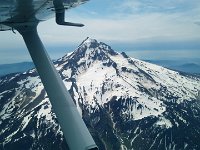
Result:
<svg viewBox="0 0 200 150">
<path fill-rule="evenodd" d="M 140 60 L 171 60 L 171 61 L 185 61 L 185 63 L 197 63 L 200 64 L 199 50 L 141 50 L 132 49 L 130 45 L 121 46 L 109 45 L 115 51 L 121 53 L 125 52 L 128 56 Z M 47 47 L 47 52 L 49 53 L 51 59 L 57 60 L 67 53 L 73 52 L 78 45 L 67 45 L 59 47 Z M 0 64 L 12 64 L 21 62 L 32 62 L 32 59 L 25 48 L 13 49 L 17 54 L 13 55 L 10 53 L 9 56 L 0 59 Z M 8 54 L 5 51 L 6 54 Z M 14 52 L 13 52 L 14 53 Z"/>
</svg>

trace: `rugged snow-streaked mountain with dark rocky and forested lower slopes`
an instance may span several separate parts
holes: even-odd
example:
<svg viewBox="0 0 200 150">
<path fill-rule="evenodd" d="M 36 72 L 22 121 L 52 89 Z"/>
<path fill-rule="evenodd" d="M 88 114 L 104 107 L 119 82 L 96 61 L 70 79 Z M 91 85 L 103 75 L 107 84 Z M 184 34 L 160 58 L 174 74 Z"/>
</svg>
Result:
<svg viewBox="0 0 200 150">
<path fill-rule="evenodd" d="M 200 78 L 87 38 L 55 61 L 100 150 L 200 149 Z M 0 149 L 68 149 L 35 69 L 0 78 Z"/>
</svg>

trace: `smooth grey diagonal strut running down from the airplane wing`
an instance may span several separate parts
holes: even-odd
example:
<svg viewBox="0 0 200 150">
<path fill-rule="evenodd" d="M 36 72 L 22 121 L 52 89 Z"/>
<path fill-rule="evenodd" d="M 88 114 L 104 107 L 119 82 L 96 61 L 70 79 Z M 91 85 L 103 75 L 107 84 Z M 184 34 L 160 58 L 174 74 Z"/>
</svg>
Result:
<svg viewBox="0 0 200 150">
<path fill-rule="evenodd" d="M 23 36 L 70 150 L 98 150 L 37 33 L 37 23 L 15 27 Z"/>
</svg>

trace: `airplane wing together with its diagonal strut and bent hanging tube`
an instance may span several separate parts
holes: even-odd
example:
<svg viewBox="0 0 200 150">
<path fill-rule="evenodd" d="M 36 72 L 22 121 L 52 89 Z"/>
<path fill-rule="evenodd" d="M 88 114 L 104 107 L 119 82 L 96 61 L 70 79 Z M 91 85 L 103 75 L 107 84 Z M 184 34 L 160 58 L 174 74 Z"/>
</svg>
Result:
<svg viewBox="0 0 200 150">
<path fill-rule="evenodd" d="M 16 29 L 22 35 L 71 150 L 98 148 L 38 36 L 37 25 L 55 15 L 59 25 L 81 27 L 79 23 L 65 22 L 64 13 L 84 2 L 86 0 L 0 0 L 0 30 Z"/>
</svg>

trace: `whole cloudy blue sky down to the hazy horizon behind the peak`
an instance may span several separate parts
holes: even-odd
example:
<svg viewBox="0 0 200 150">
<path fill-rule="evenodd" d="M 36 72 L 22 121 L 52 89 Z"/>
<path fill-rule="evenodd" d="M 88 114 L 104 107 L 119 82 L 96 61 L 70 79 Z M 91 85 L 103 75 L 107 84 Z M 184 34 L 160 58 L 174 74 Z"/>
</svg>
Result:
<svg viewBox="0 0 200 150">
<path fill-rule="evenodd" d="M 41 23 L 39 34 L 53 59 L 86 37 L 139 59 L 200 59 L 199 0 L 90 0 L 66 12 L 83 28 Z M 0 63 L 29 61 L 21 36 L 0 33 Z"/>
</svg>

